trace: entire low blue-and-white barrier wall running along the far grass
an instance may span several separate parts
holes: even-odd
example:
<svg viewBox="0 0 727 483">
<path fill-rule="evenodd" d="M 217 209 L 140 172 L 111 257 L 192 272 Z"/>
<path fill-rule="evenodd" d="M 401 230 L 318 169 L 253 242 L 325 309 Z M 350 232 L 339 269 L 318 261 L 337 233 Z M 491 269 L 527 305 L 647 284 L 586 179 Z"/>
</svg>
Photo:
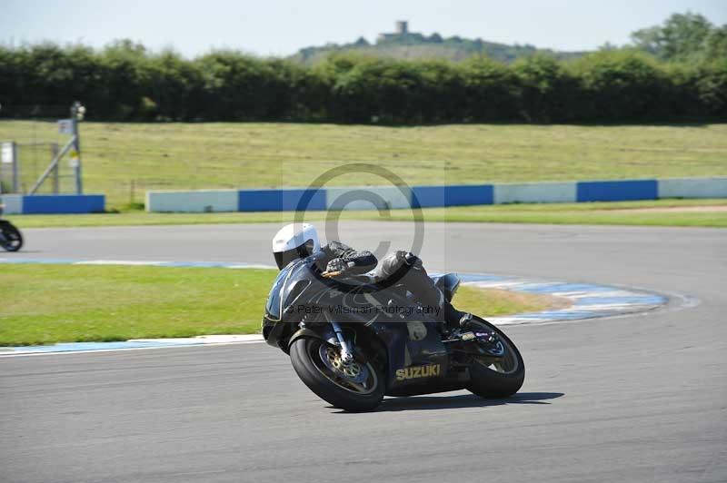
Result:
<svg viewBox="0 0 727 483">
<path fill-rule="evenodd" d="M 660 198 L 727 198 L 727 178 L 673 178 L 589 182 L 545 182 L 509 184 L 465 184 L 414 186 L 411 193 L 396 187 L 340 187 L 284 190 L 206 190 L 191 192 L 147 192 L 149 212 L 293 212 L 301 202 L 309 211 L 334 208 L 334 201 L 371 192 L 376 202 L 352 202 L 347 209 L 427 208 L 503 202 L 621 202 Z M 103 194 L 4 194 L 5 212 L 93 213 L 105 211 Z"/>
</svg>

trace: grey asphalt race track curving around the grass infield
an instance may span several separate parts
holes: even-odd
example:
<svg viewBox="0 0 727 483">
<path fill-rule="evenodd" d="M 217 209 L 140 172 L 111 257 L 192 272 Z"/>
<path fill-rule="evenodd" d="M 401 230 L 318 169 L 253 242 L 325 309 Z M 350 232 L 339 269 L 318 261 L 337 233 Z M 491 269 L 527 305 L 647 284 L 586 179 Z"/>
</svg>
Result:
<svg viewBox="0 0 727 483">
<path fill-rule="evenodd" d="M 27 230 L 22 256 L 269 263 L 275 228 Z M 342 236 L 402 246 L 410 232 L 356 222 Z M 727 481 L 727 231 L 428 224 L 422 252 L 437 271 L 672 301 L 509 327 L 527 365 L 512 399 L 385 399 L 369 414 L 328 407 L 264 344 L 5 358 L 0 480 Z"/>
</svg>

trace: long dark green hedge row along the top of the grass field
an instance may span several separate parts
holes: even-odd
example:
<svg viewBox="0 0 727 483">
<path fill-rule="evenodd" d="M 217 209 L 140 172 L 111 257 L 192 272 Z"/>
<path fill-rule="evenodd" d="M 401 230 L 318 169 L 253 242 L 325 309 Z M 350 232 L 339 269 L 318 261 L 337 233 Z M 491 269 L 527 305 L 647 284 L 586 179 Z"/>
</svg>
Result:
<svg viewBox="0 0 727 483">
<path fill-rule="evenodd" d="M 727 119 L 727 59 L 663 64 L 631 51 L 514 64 L 338 55 L 314 67 L 237 52 L 186 60 L 127 41 L 103 51 L 0 48 L 0 115 L 81 100 L 94 120 L 339 123 Z"/>
</svg>

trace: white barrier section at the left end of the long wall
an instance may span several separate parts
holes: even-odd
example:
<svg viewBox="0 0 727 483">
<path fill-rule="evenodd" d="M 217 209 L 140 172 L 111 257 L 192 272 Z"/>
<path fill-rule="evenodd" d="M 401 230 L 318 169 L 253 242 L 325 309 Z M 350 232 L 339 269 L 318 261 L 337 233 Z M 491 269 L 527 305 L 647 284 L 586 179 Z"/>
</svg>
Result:
<svg viewBox="0 0 727 483">
<path fill-rule="evenodd" d="M 147 212 L 236 212 L 237 190 L 146 192 Z"/>
</svg>

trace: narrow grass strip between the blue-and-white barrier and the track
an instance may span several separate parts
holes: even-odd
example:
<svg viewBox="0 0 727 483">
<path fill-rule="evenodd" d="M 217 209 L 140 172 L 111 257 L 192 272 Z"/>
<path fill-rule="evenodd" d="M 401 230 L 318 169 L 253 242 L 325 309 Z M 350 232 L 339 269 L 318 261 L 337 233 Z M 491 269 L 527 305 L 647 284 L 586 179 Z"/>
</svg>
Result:
<svg viewBox="0 0 727 483">
<path fill-rule="evenodd" d="M 644 208 L 724 206 L 727 200 L 659 200 L 645 202 L 588 202 L 553 204 L 503 204 L 428 208 L 424 220 L 430 222 L 507 222 L 626 224 L 658 226 L 727 227 L 727 212 L 642 212 Z M 326 212 L 309 212 L 306 221 L 322 221 Z M 294 212 L 234 213 L 147 213 L 122 212 L 80 215 L 10 215 L 8 219 L 23 228 L 217 224 L 284 223 L 294 220 Z M 344 220 L 381 220 L 378 212 L 343 212 Z M 408 210 L 394 210 L 390 220 L 410 221 Z"/>
</svg>

